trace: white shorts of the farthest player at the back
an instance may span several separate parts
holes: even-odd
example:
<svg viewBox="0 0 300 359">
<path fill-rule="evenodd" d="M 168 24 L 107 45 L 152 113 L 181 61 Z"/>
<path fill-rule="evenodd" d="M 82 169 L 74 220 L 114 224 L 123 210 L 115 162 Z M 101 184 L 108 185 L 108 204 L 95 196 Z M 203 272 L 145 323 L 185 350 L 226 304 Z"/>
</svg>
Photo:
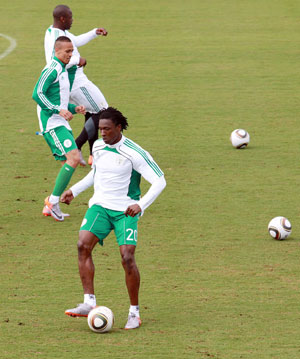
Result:
<svg viewBox="0 0 300 359">
<path fill-rule="evenodd" d="M 108 104 L 99 88 L 90 80 L 85 81 L 82 86 L 70 93 L 70 103 L 74 105 L 84 105 L 87 112 L 97 113 Z"/>
</svg>

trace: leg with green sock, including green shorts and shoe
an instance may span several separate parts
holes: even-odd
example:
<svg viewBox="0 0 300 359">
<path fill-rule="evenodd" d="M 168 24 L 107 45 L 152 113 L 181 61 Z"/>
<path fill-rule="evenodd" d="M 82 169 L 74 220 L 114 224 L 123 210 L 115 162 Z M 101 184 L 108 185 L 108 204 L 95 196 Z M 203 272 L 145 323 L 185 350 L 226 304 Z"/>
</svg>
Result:
<svg viewBox="0 0 300 359">
<path fill-rule="evenodd" d="M 57 221 L 63 221 L 64 216 L 59 207 L 59 197 L 66 189 L 78 166 L 79 151 L 72 131 L 64 126 L 50 130 L 44 134 L 44 138 L 50 146 L 55 159 L 66 161 L 56 177 L 51 195 L 45 199 L 45 206 L 50 211 L 51 216 Z"/>
</svg>

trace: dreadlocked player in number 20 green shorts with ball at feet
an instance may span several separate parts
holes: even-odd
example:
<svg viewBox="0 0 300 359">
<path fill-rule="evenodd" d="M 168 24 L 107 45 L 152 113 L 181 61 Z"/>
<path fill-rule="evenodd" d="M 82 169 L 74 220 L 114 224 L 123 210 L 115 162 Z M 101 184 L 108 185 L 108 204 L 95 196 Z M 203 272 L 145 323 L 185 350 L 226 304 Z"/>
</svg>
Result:
<svg viewBox="0 0 300 359">
<path fill-rule="evenodd" d="M 86 177 L 62 194 L 61 201 L 70 204 L 79 193 L 94 185 L 94 195 L 89 201 L 77 243 L 84 303 L 65 313 L 73 317 L 86 317 L 96 306 L 92 251 L 98 242 L 103 245 L 105 237 L 114 230 L 130 299 L 125 329 L 134 329 L 141 325 L 138 298 L 140 275 L 134 257 L 138 239 L 137 223 L 140 215 L 165 188 L 166 181 L 151 155 L 122 134 L 127 126 L 126 117 L 117 109 L 108 107 L 100 112 L 102 139 L 93 146 L 93 168 Z M 142 198 L 141 176 L 151 183 Z"/>
</svg>

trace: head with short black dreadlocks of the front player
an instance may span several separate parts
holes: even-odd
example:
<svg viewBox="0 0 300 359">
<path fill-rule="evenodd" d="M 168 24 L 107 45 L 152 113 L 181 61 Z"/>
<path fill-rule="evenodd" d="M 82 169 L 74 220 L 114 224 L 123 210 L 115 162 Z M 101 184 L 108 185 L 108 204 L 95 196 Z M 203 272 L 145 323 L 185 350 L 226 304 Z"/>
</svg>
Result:
<svg viewBox="0 0 300 359">
<path fill-rule="evenodd" d="M 103 141 L 113 145 L 120 141 L 123 130 L 128 127 L 127 118 L 116 108 L 108 107 L 100 112 L 99 130 Z"/>
</svg>

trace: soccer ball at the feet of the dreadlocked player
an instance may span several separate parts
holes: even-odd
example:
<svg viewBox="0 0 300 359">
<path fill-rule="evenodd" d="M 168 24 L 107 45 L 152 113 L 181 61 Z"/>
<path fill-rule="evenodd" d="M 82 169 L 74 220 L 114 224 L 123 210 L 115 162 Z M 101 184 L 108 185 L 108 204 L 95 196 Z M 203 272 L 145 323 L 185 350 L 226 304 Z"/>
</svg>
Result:
<svg viewBox="0 0 300 359">
<path fill-rule="evenodd" d="M 114 325 L 114 313 L 107 307 L 96 307 L 89 312 L 88 325 L 96 333 L 105 333 Z"/>
</svg>

